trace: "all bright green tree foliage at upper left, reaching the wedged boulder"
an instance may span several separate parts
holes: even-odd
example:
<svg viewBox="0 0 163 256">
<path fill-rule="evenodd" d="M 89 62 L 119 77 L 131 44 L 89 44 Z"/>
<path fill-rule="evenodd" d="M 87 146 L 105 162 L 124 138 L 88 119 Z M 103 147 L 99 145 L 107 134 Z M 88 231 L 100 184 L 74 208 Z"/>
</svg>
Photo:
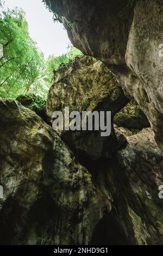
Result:
<svg viewBox="0 0 163 256">
<path fill-rule="evenodd" d="M 51 86 L 53 71 L 82 53 L 68 46 L 62 56 L 49 56 L 37 50 L 28 32 L 28 23 L 22 9 L 4 10 L 0 0 L 0 96 L 15 99 L 28 93 L 46 97 Z"/>
</svg>

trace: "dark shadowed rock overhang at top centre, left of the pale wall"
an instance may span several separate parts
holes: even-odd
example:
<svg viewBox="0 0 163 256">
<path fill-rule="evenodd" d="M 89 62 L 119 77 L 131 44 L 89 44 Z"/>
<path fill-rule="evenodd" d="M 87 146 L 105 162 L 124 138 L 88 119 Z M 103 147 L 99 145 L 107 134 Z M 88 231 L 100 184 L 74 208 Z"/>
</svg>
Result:
<svg viewBox="0 0 163 256">
<path fill-rule="evenodd" d="M 128 0 L 44 0 L 73 45 L 111 65 L 124 64 L 133 12 Z"/>
</svg>

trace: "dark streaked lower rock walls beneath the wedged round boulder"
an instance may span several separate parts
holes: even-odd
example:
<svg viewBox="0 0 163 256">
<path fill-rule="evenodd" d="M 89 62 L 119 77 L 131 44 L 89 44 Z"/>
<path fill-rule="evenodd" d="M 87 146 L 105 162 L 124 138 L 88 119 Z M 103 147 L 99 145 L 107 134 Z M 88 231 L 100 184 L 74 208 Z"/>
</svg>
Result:
<svg viewBox="0 0 163 256">
<path fill-rule="evenodd" d="M 162 244 L 163 158 L 151 129 L 126 135 L 110 160 L 79 157 L 83 167 L 30 109 L 1 99 L 0 114 L 1 244 Z"/>
</svg>

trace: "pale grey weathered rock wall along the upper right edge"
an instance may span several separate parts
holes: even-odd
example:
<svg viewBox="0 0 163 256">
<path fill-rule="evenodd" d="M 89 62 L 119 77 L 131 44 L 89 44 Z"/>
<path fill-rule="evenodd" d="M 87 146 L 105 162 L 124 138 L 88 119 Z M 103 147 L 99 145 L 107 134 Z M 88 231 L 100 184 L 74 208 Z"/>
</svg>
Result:
<svg viewBox="0 0 163 256">
<path fill-rule="evenodd" d="M 142 82 L 140 87 L 137 83 L 133 83 L 132 89 L 127 86 L 127 90 L 146 113 L 156 142 L 163 149 L 163 57 L 159 56 L 162 27 L 162 1 L 139 1 L 129 34 L 126 62 Z"/>
</svg>

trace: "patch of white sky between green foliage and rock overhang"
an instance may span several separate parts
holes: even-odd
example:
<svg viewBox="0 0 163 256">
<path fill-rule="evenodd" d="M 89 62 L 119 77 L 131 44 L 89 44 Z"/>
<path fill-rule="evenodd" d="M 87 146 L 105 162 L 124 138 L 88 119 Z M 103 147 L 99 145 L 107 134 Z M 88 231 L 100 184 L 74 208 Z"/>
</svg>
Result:
<svg viewBox="0 0 163 256">
<path fill-rule="evenodd" d="M 45 8 L 42 0 L 5 0 L 5 7 L 19 7 L 25 11 L 30 37 L 37 42 L 45 58 L 67 52 L 67 44 L 70 44 L 67 32 L 62 24 L 54 23 L 53 14 Z"/>
</svg>

